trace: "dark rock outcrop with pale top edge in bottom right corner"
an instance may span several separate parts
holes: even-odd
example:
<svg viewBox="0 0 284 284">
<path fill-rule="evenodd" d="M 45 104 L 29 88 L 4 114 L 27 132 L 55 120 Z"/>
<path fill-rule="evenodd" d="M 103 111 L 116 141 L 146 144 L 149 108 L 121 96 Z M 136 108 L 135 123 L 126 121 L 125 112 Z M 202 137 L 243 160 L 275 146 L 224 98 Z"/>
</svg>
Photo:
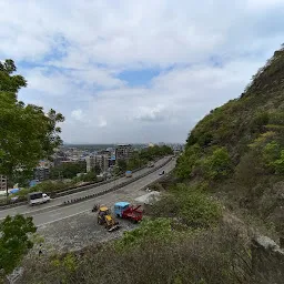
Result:
<svg viewBox="0 0 284 284">
<path fill-rule="evenodd" d="M 270 237 L 253 240 L 252 272 L 258 284 L 284 283 L 284 251 Z"/>
</svg>

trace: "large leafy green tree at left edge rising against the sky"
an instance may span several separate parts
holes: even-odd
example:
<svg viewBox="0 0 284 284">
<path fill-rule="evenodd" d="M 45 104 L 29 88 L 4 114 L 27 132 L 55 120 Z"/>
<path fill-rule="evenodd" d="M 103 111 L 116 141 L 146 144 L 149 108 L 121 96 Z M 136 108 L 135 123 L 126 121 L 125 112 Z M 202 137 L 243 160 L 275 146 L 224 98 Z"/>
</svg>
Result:
<svg viewBox="0 0 284 284">
<path fill-rule="evenodd" d="M 0 173 L 11 179 L 14 172 L 30 173 L 40 159 L 50 158 L 62 142 L 58 122 L 61 113 L 24 104 L 18 91 L 27 87 L 21 75 L 12 75 L 17 68 L 12 60 L 0 62 Z"/>
</svg>

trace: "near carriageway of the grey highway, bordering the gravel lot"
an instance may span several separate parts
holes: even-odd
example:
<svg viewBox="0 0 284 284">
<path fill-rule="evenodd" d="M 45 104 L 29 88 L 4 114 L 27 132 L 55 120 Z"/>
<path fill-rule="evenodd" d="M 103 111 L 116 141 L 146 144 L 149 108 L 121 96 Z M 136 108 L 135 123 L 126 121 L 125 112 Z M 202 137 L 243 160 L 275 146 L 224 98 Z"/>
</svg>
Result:
<svg viewBox="0 0 284 284">
<path fill-rule="evenodd" d="M 57 207 L 54 210 L 51 210 L 49 212 L 44 213 L 30 213 L 29 215 L 33 216 L 33 222 L 36 225 L 47 225 L 57 221 L 62 222 L 70 222 L 70 217 L 75 216 L 80 213 L 91 211 L 94 203 L 99 204 L 106 204 L 106 205 L 113 205 L 114 202 L 118 201 L 133 201 L 133 199 L 141 196 L 145 194 L 145 192 L 142 192 L 141 189 L 149 185 L 150 183 L 161 179 L 161 175 L 159 173 L 161 171 L 165 171 L 165 174 L 169 173 L 171 170 L 173 170 L 175 166 L 175 160 L 172 160 L 170 163 L 164 165 L 163 168 L 156 170 L 155 172 L 141 178 L 140 180 L 115 191 L 108 193 L 105 195 L 102 195 L 100 197 L 95 197 L 92 200 L 88 200 L 85 202 L 77 203 L 73 205 L 67 205 L 63 207 Z"/>
</svg>

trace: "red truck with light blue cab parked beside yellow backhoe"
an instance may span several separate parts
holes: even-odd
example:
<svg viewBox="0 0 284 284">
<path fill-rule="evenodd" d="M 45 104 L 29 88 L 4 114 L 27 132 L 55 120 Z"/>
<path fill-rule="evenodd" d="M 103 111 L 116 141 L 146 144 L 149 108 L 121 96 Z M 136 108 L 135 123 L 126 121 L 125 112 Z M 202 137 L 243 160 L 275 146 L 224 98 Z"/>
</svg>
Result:
<svg viewBox="0 0 284 284">
<path fill-rule="evenodd" d="M 129 202 L 116 202 L 114 204 L 114 214 L 118 217 L 128 219 L 138 223 L 143 217 L 143 210 L 141 210 L 141 205 L 134 206 Z"/>
</svg>

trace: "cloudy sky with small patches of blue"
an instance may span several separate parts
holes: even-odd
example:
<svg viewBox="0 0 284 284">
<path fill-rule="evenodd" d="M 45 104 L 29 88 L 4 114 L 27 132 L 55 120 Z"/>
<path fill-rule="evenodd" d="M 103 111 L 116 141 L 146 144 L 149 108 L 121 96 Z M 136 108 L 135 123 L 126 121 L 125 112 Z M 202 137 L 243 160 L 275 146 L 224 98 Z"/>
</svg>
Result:
<svg viewBox="0 0 284 284">
<path fill-rule="evenodd" d="M 0 0 L 19 99 L 72 143 L 184 142 L 284 42 L 284 0 Z"/>
</svg>

